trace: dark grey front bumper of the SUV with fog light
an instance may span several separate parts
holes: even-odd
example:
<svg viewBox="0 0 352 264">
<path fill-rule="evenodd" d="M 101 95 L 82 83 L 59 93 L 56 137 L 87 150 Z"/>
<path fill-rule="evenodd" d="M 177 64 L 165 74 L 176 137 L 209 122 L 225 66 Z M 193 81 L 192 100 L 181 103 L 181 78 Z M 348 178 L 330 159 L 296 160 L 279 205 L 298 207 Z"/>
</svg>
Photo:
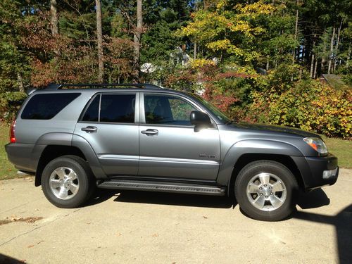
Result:
<svg viewBox="0 0 352 264">
<path fill-rule="evenodd" d="M 301 172 L 305 189 L 315 189 L 332 185 L 339 177 L 337 157 L 328 154 L 324 157 L 292 157 Z"/>
</svg>

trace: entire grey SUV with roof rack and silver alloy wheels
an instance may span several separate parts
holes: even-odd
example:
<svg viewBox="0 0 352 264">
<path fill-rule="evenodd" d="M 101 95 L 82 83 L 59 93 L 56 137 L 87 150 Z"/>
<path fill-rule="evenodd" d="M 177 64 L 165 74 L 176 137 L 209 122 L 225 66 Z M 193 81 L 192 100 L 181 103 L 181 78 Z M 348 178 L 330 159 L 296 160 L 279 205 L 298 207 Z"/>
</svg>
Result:
<svg viewBox="0 0 352 264">
<path fill-rule="evenodd" d="M 299 189 L 339 174 L 318 134 L 232 122 L 196 94 L 151 84 L 50 85 L 27 97 L 10 134 L 8 159 L 62 208 L 95 187 L 234 194 L 249 217 L 282 220 Z"/>
</svg>

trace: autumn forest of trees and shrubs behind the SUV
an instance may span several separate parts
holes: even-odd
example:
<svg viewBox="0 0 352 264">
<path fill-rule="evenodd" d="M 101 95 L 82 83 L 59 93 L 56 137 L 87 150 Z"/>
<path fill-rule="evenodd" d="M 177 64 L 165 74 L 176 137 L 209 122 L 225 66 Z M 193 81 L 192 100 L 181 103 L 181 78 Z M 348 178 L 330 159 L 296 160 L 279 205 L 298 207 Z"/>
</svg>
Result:
<svg viewBox="0 0 352 264">
<path fill-rule="evenodd" d="M 150 82 L 352 135 L 351 0 L 1 0 L 0 119 L 49 83 Z"/>
</svg>

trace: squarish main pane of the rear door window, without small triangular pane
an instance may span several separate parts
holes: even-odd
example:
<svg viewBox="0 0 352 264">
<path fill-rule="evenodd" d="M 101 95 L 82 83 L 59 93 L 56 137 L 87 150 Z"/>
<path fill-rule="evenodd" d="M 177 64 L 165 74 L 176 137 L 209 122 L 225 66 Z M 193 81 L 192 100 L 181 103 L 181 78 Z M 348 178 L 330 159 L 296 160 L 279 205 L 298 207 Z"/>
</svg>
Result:
<svg viewBox="0 0 352 264">
<path fill-rule="evenodd" d="M 134 94 L 103 94 L 100 122 L 134 122 Z"/>
</svg>

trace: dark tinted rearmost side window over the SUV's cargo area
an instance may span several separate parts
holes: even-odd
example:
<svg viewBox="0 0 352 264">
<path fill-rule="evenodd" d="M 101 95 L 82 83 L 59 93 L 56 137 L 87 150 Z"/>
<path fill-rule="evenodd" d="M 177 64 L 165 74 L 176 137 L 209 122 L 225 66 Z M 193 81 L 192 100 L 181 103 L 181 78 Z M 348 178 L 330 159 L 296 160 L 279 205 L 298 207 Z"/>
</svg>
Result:
<svg viewBox="0 0 352 264">
<path fill-rule="evenodd" d="M 54 118 L 80 93 L 36 94 L 28 101 L 22 119 L 48 120 Z"/>
</svg>

